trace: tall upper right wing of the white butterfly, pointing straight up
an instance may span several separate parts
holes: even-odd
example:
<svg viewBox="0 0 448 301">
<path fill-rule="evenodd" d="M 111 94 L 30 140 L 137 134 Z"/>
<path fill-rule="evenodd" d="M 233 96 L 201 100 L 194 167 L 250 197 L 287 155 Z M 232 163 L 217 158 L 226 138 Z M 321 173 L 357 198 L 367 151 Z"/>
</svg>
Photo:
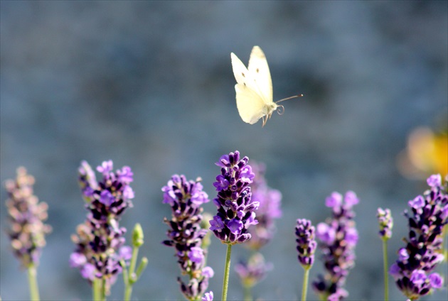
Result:
<svg viewBox="0 0 448 301">
<path fill-rule="evenodd" d="M 247 65 L 250 77 L 255 81 L 257 93 L 260 94 L 266 104 L 272 101 L 272 79 L 265 53 L 260 47 L 254 46 L 250 53 L 249 65 Z"/>
</svg>

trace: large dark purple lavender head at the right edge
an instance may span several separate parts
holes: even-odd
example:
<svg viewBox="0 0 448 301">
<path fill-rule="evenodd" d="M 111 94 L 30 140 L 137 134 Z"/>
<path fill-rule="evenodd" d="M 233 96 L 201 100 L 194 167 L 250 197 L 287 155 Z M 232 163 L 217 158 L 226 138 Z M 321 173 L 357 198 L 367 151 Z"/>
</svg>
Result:
<svg viewBox="0 0 448 301">
<path fill-rule="evenodd" d="M 409 222 L 409 236 L 389 270 L 398 288 L 411 300 L 443 284 L 442 277 L 432 272 L 444 259 L 442 231 L 448 223 L 447 183 L 442 185 L 442 177 L 432 175 L 427 184 L 429 190 L 408 202 L 411 212 L 406 210 L 405 217 Z"/>
</svg>

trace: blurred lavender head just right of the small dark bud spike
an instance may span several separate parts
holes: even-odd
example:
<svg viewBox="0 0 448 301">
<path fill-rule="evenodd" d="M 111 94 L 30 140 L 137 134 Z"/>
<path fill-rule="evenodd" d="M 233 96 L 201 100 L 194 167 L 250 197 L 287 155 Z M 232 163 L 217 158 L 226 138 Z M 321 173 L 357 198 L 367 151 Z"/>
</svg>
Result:
<svg viewBox="0 0 448 301">
<path fill-rule="evenodd" d="M 358 242 L 352 210 L 355 204 L 358 204 L 358 197 L 354 192 L 348 191 L 344 197 L 333 192 L 326 198 L 326 206 L 333 210 L 333 216 L 316 227 L 326 274 L 319 275 L 313 287 L 322 300 L 343 300 L 348 296 L 343 285 L 348 272 L 355 266 L 354 250 Z"/>
</svg>

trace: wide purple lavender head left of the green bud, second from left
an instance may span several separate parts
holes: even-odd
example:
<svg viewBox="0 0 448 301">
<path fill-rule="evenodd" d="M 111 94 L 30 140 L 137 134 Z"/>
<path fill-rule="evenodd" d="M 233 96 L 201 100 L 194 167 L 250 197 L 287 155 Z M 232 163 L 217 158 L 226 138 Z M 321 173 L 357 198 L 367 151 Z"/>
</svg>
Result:
<svg viewBox="0 0 448 301">
<path fill-rule="evenodd" d="M 122 272 L 120 261 L 129 261 L 132 248 L 124 246 L 126 229 L 119 226 L 119 219 L 132 207 L 134 191 L 129 186 L 133 180 L 131 168 L 124 166 L 112 172 L 112 160 L 97 167 L 102 180 L 97 181 L 90 165 L 82 161 L 79 182 L 88 210 L 84 224 L 72 236 L 76 244 L 70 256 L 70 266 L 79 268 L 83 278 L 92 282 L 95 278 L 105 280 L 105 291 Z"/>
</svg>

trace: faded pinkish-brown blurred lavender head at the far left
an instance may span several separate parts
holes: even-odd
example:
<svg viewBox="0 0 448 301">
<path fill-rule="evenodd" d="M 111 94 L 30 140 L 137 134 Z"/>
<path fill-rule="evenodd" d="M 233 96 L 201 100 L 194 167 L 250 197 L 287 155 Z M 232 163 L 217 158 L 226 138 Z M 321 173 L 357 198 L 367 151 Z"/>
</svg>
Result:
<svg viewBox="0 0 448 301">
<path fill-rule="evenodd" d="M 33 195 L 34 177 L 26 169 L 17 169 L 16 180 L 6 180 L 8 208 L 11 227 L 8 231 L 14 255 L 21 261 L 23 268 L 38 266 L 42 248 L 46 245 L 45 235 L 51 232 L 48 224 L 48 205 L 38 202 Z"/>
</svg>

